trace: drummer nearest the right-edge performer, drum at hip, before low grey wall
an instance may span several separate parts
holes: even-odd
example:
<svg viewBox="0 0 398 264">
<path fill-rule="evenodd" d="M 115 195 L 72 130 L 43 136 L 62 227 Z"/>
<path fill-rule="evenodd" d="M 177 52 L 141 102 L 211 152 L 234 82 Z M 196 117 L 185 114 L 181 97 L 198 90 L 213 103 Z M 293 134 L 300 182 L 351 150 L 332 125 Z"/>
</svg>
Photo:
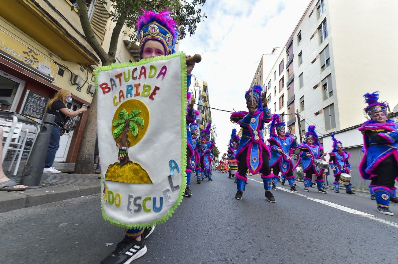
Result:
<svg viewBox="0 0 398 264">
<path fill-rule="evenodd" d="M 336 137 L 332 134 L 333 140 L 333 150 L 329 153 L 330 159 L 329 164 L 334 173 L 334 192 L 339 192 L 339 185 L 342 183 L 345 186 L 345 193 L 349 195 L 355 195 L 351 191 L 351 176 L 349 175 L 351 170 L 351 164 L 349 164 L 348 159 L 351 156 L 347 151 L 343 151 L 343 144 L 338 141 Z"/>
</svg>

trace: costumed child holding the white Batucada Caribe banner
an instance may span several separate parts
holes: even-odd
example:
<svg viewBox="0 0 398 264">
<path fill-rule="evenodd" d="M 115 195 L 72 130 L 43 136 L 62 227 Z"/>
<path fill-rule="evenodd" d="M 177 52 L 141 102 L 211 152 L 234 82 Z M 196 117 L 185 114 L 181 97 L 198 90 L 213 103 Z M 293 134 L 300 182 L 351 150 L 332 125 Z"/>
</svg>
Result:
<svg viewBox="0 0 398 264">
<path fill-rule="evenodd" d="M 137 33 L 139 36 L 140 59 L 154 58 L 175 53 L 175 44 L 178 37 L 176 21 L 170 17 L 167 10 L 160 13 L 141 9 L 143 14 L 137 19 Z M 191 56 L 187 56 L 189 58 Z M 195 63 L 187 61 L 187 87 L 191 83 L 191 71 Z M 190 98 L 187 94 L 187 98 Z M 196 120 L 196 113 L 193 109 L 193 102 L 189 101 L 187 106 L 187 123 Z M 187 151 L 187 155 L 192 155 Z M 187 169 L 188 170 L 188 169 Z M 188 170 L 189 171 L 189 170 Z M 132 214 L 133 216 L 133 214 Z M 146 254 L 147 248 L 145 239 L 151 235 L 152 228 L 132 228 L 128 229 L 125 237 L 116 246 L 109 256 L 101 261 L 101 264 L 128 264 L 133 260 Z"/>
</svg>

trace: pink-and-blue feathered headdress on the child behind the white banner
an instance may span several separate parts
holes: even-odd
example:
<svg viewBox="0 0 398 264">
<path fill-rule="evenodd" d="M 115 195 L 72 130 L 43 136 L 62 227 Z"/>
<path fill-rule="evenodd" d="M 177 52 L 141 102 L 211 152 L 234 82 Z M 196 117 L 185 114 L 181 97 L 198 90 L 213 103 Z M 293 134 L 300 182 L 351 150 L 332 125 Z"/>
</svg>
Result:
<svg viewBox="0 0 398 264">
<path fill-rule="evenodd" d="M 170 17 L 170 11 L 167 9 L 156 13 L 152 10 L 145 11 L 141 8 L 143 14 L 137 19 L 137 33 L 140 41 L 139 52 L 147 40 L 158 40 L 164 46 L 166 55 L 175 53 L 176 39 L 178 37 L 177 23 Z"/>
</svg>

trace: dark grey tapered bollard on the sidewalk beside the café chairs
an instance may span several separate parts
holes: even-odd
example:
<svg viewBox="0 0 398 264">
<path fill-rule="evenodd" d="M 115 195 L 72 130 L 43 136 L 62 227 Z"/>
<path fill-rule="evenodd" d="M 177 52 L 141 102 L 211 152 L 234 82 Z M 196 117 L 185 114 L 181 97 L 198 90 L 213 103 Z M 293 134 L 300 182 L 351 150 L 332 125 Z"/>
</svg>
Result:
<svg viewBox="0 0 398 264">
<path fill-rule="evenodd" d="M 54 115 L 45 114 L 40 132 L 37 134 L 35 145 L 31 149 L 30 156 L 23 168 L 20 184 L 27 185 L 29 188 L 41 187 L 41 175 L 43 175 L 54 120 Z"/>
</svg>

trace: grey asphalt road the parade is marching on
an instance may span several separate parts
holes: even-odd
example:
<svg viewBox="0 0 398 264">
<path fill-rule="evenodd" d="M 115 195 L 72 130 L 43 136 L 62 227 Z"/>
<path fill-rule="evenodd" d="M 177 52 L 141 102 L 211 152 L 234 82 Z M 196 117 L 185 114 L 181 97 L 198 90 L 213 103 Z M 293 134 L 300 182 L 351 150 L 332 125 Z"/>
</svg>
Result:
<svg viewBox="0 0 398 264">
<path fill-rule="evenodd" d="M 133 263 L 396 263 L 395 216 L 376 212 L 367 195 L 316 188 L 299 194 L 279 187 L 265 200 L 260 177 L 250 176 L 243 200 L 226 173 L 196 184 L 176 213 L 146 240 L 148 252 Z M 123 238 L 105 222 L 100 195 L 0 214 L 0 264 L 95 263 Z"/>
</svg>

